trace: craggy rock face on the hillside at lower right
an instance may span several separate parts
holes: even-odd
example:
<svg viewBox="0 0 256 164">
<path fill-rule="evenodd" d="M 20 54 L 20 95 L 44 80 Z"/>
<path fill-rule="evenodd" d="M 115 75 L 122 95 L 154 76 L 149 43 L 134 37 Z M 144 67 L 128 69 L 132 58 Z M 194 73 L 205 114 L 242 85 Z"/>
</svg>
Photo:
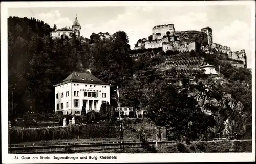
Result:
<svg viewBox="0 0 256 164">
<path fill-rule="evenodd" d="M 203 112 L 214 116 L 217 126 L 209 130 L 223 137 L 233 135 L 234 132 L 245 132 L 241 121 L 245 117 L 242 113 L 244 106 L 231 94 L 220 90 L 219 86 L 225 84 L 227 81 L 219 77 L 190 81 L 193 87 L 188 91 L 188 96 L 196 99 Z"/>
</svg>

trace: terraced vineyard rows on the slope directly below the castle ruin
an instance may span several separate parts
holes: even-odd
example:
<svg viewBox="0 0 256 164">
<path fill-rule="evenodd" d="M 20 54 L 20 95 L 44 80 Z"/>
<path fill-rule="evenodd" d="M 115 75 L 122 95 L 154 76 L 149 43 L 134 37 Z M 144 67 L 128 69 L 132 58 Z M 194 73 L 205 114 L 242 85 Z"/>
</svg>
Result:
<svg viewBox="0 0 256 164">
<path fill-rule="evenodd" d="M 190 57 L 189 55 L 174 55 L 165 58 L 165 66 L 193 66 L 198 67 L 202 65 L 204 58 Z"/>
</svg>

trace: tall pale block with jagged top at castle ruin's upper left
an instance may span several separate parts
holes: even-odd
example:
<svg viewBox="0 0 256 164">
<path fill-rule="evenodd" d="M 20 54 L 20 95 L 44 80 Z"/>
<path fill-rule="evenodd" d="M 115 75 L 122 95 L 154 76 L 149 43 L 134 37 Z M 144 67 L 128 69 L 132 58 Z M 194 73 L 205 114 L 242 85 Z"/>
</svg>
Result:
<svg viewBox="0 0 256 164">
<path fill-rule="evenodd" d="M 174 33 L 174 24 L 156 25 L 152 29 L 152 40 L 162 39 L 164 35 L 173 35 Z"/>
</svg>

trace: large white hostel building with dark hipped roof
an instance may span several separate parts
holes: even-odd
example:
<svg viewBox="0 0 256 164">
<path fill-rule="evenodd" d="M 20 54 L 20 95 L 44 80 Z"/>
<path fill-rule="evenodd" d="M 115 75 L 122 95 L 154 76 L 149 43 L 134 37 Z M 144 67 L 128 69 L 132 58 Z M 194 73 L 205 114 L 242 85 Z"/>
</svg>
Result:
<svg viewBox="0 0 256 164">
<path fill-rule="evenodd" d="M 98 112 L 102 103 L 110 103 L 110 85 L 89 73 L 73 72 L 55 87 L 55 114 L 81 115 Z"/>
</svg>

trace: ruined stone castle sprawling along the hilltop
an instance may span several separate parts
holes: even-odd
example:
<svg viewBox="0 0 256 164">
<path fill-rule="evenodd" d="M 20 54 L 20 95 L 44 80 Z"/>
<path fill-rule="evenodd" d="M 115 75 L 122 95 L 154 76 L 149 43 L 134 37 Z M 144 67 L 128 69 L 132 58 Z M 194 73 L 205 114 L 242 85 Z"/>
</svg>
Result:
<svg viewBox="0 0 256 164">
<path fill-rule="evenodd" d="M 157 25 L 152 29 L 152 40 L 146 38 L 139 39 L 135 44 L 135 49 L 162 48 L 164 52 L 202 50 L 212 54 L 219 52 L 227 54 L 235 67 L 247 67 L 245 50 L 232 52 L 230 47 L 213 43 L 212 29 L 202 28 L 201 31 L 175 31 L 174 24 Z M 241 64 L 242 61 L 242 64 Z"/>
</svg>

